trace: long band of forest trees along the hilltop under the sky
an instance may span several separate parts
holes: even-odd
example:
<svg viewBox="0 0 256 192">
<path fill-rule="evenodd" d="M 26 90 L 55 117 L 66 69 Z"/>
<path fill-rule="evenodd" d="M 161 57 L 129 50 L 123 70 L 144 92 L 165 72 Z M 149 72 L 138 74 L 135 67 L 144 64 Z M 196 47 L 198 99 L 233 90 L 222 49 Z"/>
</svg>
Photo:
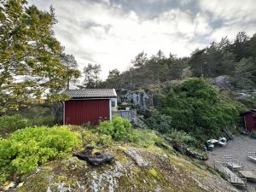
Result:
<svg viewBox="0 0 256 192">
<path fill-rule="evenodd" d="M 109 72 L 108 79 L 100 87 L 150 89 L 155 85 L 189 77 L 212 79 L 221 75 L 230 76 L 235 89 L 252 90 L 256 83 L 256 35 L 248 37 L 239 32 L 230 42 L 222 38 L 204 49 L 195 49 L 189 57 L 177 58 L 164 55 L 159 50 L 148 56 L 142 52 L 132 61 L 133 67 L 124 73 L 116 69 Z"/>
</svg>

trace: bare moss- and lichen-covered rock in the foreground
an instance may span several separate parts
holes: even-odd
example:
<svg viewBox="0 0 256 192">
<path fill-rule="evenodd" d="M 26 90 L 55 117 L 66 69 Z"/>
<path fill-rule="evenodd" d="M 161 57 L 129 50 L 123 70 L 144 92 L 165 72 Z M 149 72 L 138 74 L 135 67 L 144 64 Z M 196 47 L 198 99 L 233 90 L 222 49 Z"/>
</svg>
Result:
<svg viewBox="0 0 256 192">
<path fill-rule="evenodd" d="M 76 157 L 51 161 L 9 191 L 236 191 L 207 166 L 191 163 L 170 148 L 116 145 L 110 152 L 115 160 L 103 166 L 90 166 Z"/>
</svg>

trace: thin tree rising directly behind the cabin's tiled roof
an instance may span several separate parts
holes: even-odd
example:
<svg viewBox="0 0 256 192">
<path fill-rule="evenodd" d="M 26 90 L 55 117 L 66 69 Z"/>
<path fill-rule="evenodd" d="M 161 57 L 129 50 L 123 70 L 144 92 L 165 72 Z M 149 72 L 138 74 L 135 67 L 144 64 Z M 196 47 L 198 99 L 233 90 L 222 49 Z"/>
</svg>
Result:
<svg viewBox="0 0 256 192">
<path fill-rule="evenodd" d="M 96 88 L 100 82 L 101 65 L 88 64 L 84 67 L 84 88 Z"/>
</svg>

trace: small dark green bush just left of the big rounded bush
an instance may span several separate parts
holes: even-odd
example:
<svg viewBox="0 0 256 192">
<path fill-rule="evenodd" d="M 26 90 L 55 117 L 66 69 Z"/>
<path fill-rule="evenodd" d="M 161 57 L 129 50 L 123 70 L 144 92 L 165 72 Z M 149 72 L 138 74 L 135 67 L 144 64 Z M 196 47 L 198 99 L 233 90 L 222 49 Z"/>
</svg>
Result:
<svg viewBox="0 0 256 192">
<path fill-rule="evenodd" d="M 146 121 L 150 128 L 156 131 L 167 132 L 172 129 L 172 117 L 157 110 L 150 111 L 150 117 Z"/>
</svg>

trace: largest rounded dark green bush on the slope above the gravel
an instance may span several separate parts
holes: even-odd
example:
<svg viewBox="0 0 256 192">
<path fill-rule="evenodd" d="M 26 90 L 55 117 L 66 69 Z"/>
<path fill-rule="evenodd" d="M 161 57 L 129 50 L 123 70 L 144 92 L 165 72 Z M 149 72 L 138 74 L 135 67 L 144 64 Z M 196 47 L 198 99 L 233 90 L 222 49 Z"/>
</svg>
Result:
<svg viewBox="0 0 256 192">
<path fill-rule="evenodd" d="M 162 113 L 172 117 L 172 127 L 204 139 L 217 137 L 239 116 L 235 102 L 225 101 L 203 79 L 185 79 L 163 97 Z"/>
</svg>

